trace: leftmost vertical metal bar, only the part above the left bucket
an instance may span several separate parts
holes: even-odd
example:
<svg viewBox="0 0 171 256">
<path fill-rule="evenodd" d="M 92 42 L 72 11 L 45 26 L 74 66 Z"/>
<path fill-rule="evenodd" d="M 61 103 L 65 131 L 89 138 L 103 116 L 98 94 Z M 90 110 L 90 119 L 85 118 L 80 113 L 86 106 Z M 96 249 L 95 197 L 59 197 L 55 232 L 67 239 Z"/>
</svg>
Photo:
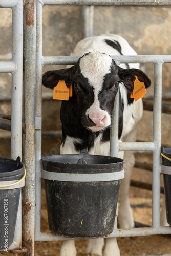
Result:
<svg viewBox="0 0 171 256">
<path fill-rule="evenodd" d="M 11 158 L 16 159 L 22 156 L 23 5 L 12 11 L 12 61 L 17 70 L 12 73 Z"/>
</svg>

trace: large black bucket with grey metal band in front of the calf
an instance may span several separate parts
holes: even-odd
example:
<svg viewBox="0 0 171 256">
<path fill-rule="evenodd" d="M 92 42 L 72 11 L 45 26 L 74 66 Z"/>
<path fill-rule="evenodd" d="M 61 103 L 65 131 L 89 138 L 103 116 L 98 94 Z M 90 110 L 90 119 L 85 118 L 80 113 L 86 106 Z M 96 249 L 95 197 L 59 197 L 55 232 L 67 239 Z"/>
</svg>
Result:
<svg viewBox="0 0 171 256">
<path fill-rule="evenodd" d="M 71 238 L 108 236 L 124 178 L 123 159 L 82 150 L 78 155 L 44 157 L 42 164 L 52 233 Z"/>
</svg>

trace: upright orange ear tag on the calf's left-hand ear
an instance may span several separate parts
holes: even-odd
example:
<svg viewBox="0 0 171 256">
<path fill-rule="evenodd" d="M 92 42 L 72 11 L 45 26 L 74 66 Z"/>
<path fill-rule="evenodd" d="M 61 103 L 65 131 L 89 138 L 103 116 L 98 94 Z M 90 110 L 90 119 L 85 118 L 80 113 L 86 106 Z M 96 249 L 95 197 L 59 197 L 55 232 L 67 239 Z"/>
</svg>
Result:
<svg viewBox="0 0 171 256">
<path fill-rule="evenodd" d="M 69 100 L 70 89 L 66 86 L 65 80 L 59 80 L 57 86 L 53 88 L 53 99 Z"/>
</svg>

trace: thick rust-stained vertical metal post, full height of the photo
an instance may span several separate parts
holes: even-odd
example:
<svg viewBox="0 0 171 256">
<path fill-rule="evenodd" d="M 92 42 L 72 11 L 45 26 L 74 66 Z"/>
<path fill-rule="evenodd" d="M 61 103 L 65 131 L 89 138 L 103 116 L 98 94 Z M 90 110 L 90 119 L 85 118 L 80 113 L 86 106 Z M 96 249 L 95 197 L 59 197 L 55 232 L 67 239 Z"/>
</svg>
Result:
<svg viewBox="0 0 171 256">
<path fill-rule="evenodd" d="M 35 228 L 35 77 L 36 77 L 36 1 L 25 1 L 25 147 L 24 163 L 27 169 L 22 200 L 23 246 L 27 256 L 34 256 Z"/>
</svg>

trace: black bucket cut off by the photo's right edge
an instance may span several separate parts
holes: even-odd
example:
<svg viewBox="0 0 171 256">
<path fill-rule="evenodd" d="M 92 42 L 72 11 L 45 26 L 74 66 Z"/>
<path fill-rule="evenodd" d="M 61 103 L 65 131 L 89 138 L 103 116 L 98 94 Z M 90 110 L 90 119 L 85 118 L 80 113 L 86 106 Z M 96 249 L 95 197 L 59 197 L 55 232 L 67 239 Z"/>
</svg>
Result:
<svg viewBox="0 0 171 256">
<path fill-rule="evenodd" d="M 171 147 L 170 148 L 164 148 L 161 147 L 161 153 L 171 159 Z M 171 225 L 171 161 L 167 158 L 162 156 L 162 164 L 164 166 L 169 166 L 168 171 L 165 168 L 165 172 L 163 174 L 163 180 L 164 180 L 164 194 L 165 194 L 165 202 L 166 202 L 166 216 L 167 216 L 167 222 L 169 225 Z M 166 173 L 170 174 L 166 174 Z"/>
</svg>

